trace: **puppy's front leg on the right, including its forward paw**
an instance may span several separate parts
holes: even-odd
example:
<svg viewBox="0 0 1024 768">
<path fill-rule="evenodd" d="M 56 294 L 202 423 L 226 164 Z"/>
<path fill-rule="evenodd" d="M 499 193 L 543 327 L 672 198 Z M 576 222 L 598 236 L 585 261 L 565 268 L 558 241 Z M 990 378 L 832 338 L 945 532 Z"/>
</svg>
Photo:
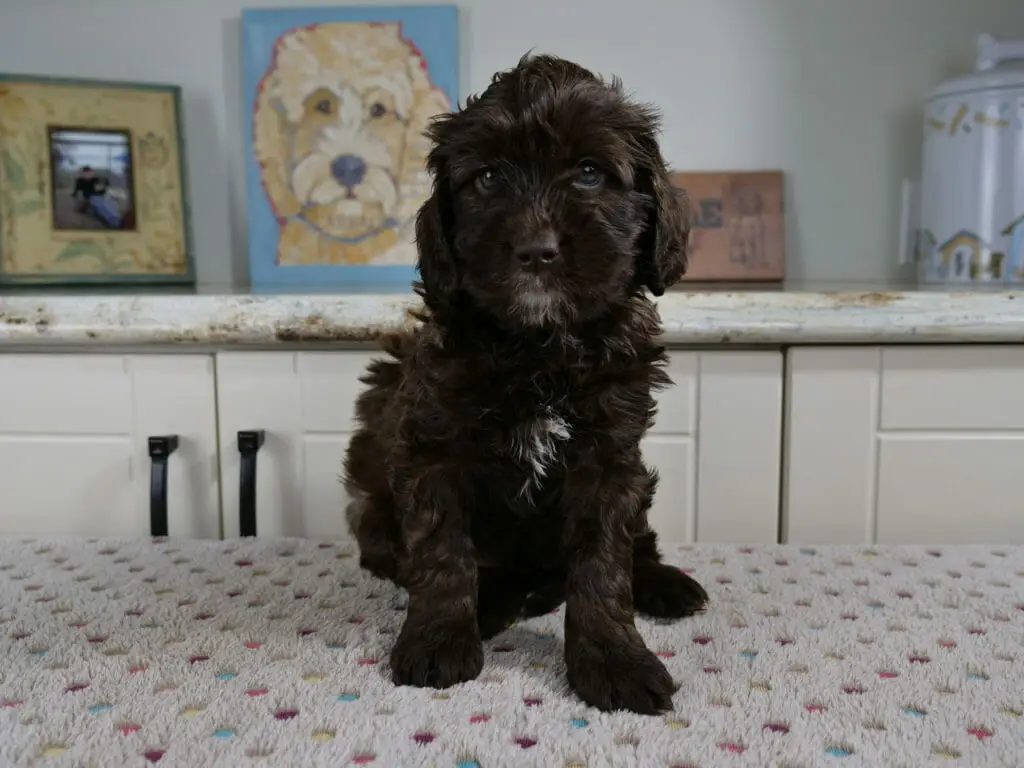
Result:
<svg viewBox="0 0 1024 768">
<path fill-rule="evenodd" d="M 633 618 L 630 522 L 642 509 L 643 477 L 632 464 L 584 464 L 586 469 L 570 472 L 563 496 L 569 685 L 600 710 L 671 710 L 677 686 Z"/>
</svg>

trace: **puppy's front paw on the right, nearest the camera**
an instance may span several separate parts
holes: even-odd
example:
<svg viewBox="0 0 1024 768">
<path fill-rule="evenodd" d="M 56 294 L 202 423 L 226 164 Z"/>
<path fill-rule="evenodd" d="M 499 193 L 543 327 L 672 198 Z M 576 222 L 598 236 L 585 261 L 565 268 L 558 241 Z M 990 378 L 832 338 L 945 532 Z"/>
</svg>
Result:
<svg viewBox="0 0 1024 768">
<path fill-rule="evenodd" d="M 678 686 L 665 665 L 642 644 L 566 648 L 569 685 L 591 707 L 657 715 L 672 710 Z"/>
</svg>

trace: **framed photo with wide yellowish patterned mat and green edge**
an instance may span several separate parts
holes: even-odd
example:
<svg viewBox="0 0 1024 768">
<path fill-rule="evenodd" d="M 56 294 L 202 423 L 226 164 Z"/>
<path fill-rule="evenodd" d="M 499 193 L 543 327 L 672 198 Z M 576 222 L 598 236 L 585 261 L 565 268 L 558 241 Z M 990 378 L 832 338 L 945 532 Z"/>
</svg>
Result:
<svg viewBox="0 0 1024 768">
<path fill-rule="evenodd" d="M 177 86 L 0 75 L 0 284 L 191 284 Z"/>
</svg>

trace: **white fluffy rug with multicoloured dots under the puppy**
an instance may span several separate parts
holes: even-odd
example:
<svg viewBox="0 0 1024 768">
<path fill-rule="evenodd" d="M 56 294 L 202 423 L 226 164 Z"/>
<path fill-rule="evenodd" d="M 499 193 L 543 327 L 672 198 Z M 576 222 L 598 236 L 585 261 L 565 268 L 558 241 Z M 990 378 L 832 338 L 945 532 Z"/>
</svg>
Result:
<svg viewBox="0 0 1024 768">
<path fill-rule="evenodd" d="M 712 604 L 638 620 L 659 717 L 571 693 L 561 610 L 473 682 L 394 687 L 404 596 L 353 552 L 0 540 L 0 765 L 1024 765 L 1024 549 L 672 551 Z"/>
</svg>

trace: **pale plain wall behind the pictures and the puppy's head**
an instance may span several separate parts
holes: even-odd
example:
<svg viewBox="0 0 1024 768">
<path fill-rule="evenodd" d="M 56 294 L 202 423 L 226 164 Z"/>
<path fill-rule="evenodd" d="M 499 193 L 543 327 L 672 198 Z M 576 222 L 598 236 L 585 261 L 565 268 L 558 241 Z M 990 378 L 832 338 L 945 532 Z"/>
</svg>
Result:
<svg viewBox="0 0 1024 768">
<path fill-rule="evenodd" d="M 0 71 L 184 87 L 207 284 L 248 273 L 238 22 L 246 4 L 297 3 L 0 0 Z M 897 274 L 899 183 L 920 172 L 922 99 L 972 67 L 978 33 L 1024 39 L 1024 0 L 460 5 L 463 96 L 528 48 L 555 52 L 656 101 L 676 167 L 784 170 L 788 271 L 808 280 Z"/>
</svg>

